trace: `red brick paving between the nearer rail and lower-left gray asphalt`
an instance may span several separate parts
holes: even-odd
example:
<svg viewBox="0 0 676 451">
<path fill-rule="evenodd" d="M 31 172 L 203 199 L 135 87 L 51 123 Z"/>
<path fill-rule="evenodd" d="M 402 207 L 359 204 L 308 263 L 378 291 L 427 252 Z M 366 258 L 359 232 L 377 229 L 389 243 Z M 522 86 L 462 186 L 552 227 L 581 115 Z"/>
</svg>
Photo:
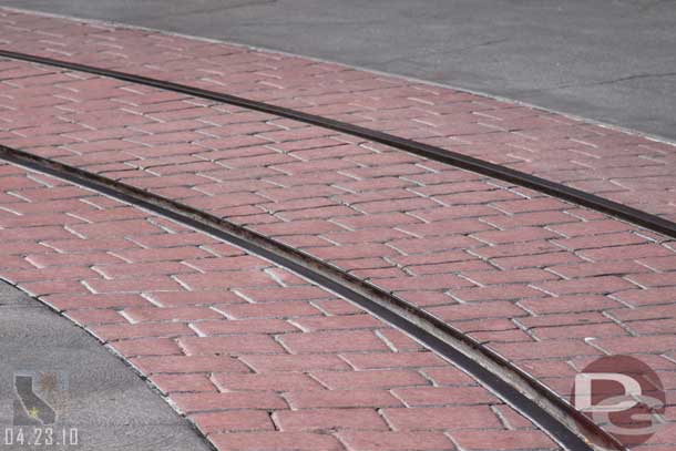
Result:
<svg viewBox="0 0 676 451">
<path fill-rule="evenodd" d="M 460 370 L 283 268 L 17 166 L 0 165 L 0 277 L 99 337 L 218 450 L 559 449 Z"/>
</svg>

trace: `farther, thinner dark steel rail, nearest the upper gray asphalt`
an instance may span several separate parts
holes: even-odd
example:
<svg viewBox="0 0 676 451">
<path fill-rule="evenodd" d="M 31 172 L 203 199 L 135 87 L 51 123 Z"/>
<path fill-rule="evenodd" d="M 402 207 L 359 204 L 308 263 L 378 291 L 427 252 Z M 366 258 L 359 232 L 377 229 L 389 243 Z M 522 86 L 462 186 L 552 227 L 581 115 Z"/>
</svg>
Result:
<svg viewBox="0 0 676 451">
<path fill-rule="evenodd" d="M 659 216 L 643 212 L 637 208 L 633 208 L 627 205 L 619 204 L 606 199 L 604 197 L 596 196 L 594 194 L 586 193 L 581 189 L 576 189 L 570 186 L 565 186 L 561 183 L 551 182 L 542 177 L 537 177 L 531 174 L 526 174 L 520 171 L 515 171 L 499 164 L 489 163 L 486 161 L 475 158 L 468 155 L 462 155 L 457 152 L 443 150 L 441 147 L 432 146 L 429 144 L 420 143 L 412 140 L 395 136 L 389 133 L 379 132 L 376 130 L 362 127 L 359 125 L 349 124 L 341 121 L 331 120 L 314 114 L 307 114 L 297 110 L 291 110 L 283 106 L 276 106 L 265 102 L 258 102 L 240 96 L 219 93 L 216 91 L 204 90 L 199 88 L 188 86 L 185 84 L 174 83 L 164 80 L 156 80 L 143 75 L 134 75 L 125 72 L 95 68 L 86 64 L 73 63 L 63 60 L 55 60 L 51 58 L 38 57 L 28 53 L 12 52 L 0 49 L 0 57 L 9 58 L 13 60 L 21 60 L 33 62 L 38 64 L 51 65 L 73 71 L 86 72 L 95 75 L 106 76 L 131 83 L 143 84 L 146 86 L 153 86 L 166 91 L 176 93 L 187 94 L 195 98 L 217 101 L 235 106 L 246 107 L 254 111 L 259 111 L 268 114 L 274 114 L 281 117 L 291 119 L 295 121 L 304 122 L 311 125 L 317 125 L 324 129 L 334 130 L 341 133 L 347 133 L 354 136 L 367 139 L 369 141 L 378 142 L 381 144 L 389 145 L 395 148 L 399 148 L 404 152 L 409 152 L 416 155 L 423 156 L 426 158 L 448 164 L 454 167 L 472 171 L 482 175 L 486 175 L 496 180 L 513 183 L 523 187 L 528 187 L 540 193 L 547 194 L 553 197 L 557 197 L 564 201 L 572 202 L 574 204 L 585 206 L 595 209 L 601 213 L 614 216 L 619 219 L 628 221 L 633 224 L 646 227 L 653 232 L 657 232 L 665 236 L 676 238 L 676 223 Z"/>
</svg>

